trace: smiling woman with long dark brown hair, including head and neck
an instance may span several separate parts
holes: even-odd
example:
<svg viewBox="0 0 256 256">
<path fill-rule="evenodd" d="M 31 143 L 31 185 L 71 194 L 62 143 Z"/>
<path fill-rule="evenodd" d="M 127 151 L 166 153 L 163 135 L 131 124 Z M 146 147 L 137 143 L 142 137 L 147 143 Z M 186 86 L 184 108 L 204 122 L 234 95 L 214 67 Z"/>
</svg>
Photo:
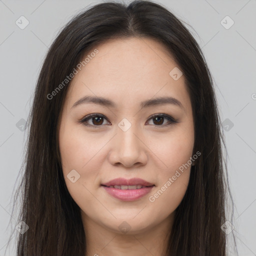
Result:
<svg viewBox="0 0 256 256">
<path fill-rule="evenodd" d="M 29 123 L 18 255 L 227 255 L 212 79 L 166 8 L 75 16 L 45 57 Z"/>
</svg>

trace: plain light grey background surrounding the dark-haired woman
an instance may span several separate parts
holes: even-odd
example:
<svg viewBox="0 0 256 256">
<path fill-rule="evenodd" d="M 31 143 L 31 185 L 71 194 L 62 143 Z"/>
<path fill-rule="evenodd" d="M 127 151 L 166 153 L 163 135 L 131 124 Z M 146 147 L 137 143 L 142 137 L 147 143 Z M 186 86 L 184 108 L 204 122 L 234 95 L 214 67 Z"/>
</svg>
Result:
<svg viewBox="0 0 256 256">
<path fill-rule="evenodd" d="M 19 181 L 27 131 L 22 131 L 20 119 L 27 120 L 43 57 L 75 13 L 99 2 L 0 0 L 0 256 L 10 234 L 9 220 L 15 221 L 10 201 Z M 225 141 L 238 254 L 256 255 L 256 0 L 157 2 L 192 26 L 186 25 L 203 49 L 215 81 L 221 120 L 228 118 Z M 21 15 L 29 21 L 24 29 L 15 23 Z M 228 29 L 220 22 L 226 15 L 234 21 Z M 231 24 L 226 18 L 222 22 Z M 15 253 L 7 250 L 6 255 Z"/>
</svg>

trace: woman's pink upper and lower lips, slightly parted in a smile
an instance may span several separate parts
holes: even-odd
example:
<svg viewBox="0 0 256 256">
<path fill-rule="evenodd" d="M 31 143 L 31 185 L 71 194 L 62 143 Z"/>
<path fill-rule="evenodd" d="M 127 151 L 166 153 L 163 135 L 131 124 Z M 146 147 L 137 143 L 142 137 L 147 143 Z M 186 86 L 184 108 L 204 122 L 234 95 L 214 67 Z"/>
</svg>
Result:
<svg viewBox="0 0 256 256">
<path fill-rule="evenodd" d="M 114 185 L 142 185 L 146 187 L 141 187 L 137 189 L 119 189 L 109 187 Z M 141 178 L 125 179 L 120 177 L 103 183 L 101 186 L 106 190 L 107 193 L 117 199 L 123 201 L 133 201 L 149 193 L 154 185 Z"/>
</svg>

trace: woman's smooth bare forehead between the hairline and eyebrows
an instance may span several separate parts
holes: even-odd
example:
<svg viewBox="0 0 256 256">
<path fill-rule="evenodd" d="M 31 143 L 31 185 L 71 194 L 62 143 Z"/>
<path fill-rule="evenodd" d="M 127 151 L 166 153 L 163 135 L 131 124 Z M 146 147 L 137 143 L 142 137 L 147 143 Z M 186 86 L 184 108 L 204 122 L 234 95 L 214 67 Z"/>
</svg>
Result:
<svg viewBox="0 0 256 256">
<path fill-rule="evenodd" d="M 95 49 L 98 52 L 91 54 Z M 69 104 L 87 94 L 107 95 L 120 104 L 124 98 L 137 98 L 140 102 L 166 94 L 187 100 L 183 75 L 178 80 L 169 75 L 177 63 L 167 48 L 154 39 L 110 39 L 91 47 L 83 60 L 86 56 L 86 63 L 77 69 L 69 84 Z"/>
</svg>

